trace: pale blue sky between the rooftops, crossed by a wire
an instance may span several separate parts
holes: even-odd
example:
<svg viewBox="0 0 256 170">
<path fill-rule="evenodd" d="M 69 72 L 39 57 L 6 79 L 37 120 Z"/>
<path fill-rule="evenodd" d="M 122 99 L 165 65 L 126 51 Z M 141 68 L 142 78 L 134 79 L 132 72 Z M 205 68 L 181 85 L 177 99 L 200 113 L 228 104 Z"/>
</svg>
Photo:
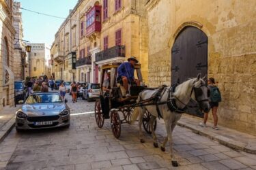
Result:
<svg viewBox="0 0 256 170">
<path fill-rule="evenodd" d="M 69 10 L 73 9 L 77 0 L 16 0 L 21 3 L 21 7 L 28 10 L 50 14 L 66 18 Z M 55 33 L 64 21 L 59 18 L 52 18 L 35 14 L 20 9 L 23 16 L 23 35 L 25 40 L 31 43 L 46 43 L 51 45 L 54 41 Z"/>
</svg>

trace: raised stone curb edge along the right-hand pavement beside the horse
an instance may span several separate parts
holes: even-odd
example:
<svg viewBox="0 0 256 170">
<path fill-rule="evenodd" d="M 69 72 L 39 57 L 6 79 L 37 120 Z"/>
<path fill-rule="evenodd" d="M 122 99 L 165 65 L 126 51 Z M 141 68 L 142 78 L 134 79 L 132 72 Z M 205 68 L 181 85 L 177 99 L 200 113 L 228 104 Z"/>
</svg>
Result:
<svg viewBox="0 0 256 170">
<path fill-rule="evenodd" d="M 218 143 L 221 143 L 223 146 L 227 146 L 231 149 L 241 150 L 243 152 L 247 152 L 250 154 L 256 154 L 256 148 L 254 146 L 251 146 L 248 143 L 242 143 L 241 141 L 234 141 L 233 139 L 229 139 L 228 137 L 219 135 L 218 133 L 212 133 L 210 131 L 204 131 L 203 129 L 197 129 L 195 125 L 186 124 L 186 122 L 182 122 L 182 120 L 179 120 L 177 122 L 177 125 L 185 127 L 186 129 L 190 129 L 194 133 L 197 133 L 201 136 L 208 137 L 214 141 L 218 141 Z"/>
</svg>

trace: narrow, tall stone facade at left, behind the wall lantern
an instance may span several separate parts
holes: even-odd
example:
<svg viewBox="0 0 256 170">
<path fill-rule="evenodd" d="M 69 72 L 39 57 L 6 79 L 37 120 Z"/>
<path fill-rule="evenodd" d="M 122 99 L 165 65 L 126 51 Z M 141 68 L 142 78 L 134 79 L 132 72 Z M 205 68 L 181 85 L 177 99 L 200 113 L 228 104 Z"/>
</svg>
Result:
<svg viewBox="0 0 256 170">
<path fill-rule="evenodd" d="M 28 57 L 25 50 L 25 43 L 23 39 L 23 21 L 20 12 L 20 2 L 14 2 L 13 16 L 14 16 L 14 29 L 16 31 L 14 37 L 14 79 L 25 80 L 29 75 Z"/>
</svg>

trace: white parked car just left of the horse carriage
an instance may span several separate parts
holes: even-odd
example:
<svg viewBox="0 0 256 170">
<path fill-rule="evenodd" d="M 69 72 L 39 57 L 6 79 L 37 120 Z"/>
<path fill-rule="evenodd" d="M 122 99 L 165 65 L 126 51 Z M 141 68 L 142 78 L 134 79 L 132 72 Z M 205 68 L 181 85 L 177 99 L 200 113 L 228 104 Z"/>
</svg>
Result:
<svg viewBox="0 0 256 170">
<path fill-rule="evenodd" d="M 83 89 L 83 98 L 92 101 L 100 97 L 100 84 L 88 83 Z"/>
</svg>

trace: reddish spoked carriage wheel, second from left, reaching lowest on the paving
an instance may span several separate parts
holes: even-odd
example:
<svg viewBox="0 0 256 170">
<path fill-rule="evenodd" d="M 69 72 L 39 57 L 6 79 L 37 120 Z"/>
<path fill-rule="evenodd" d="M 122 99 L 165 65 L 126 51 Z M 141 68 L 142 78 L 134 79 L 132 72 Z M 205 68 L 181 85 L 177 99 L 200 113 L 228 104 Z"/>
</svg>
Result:
<svg viewBox="0 0 256 170">
<path fill-rule="evenodd" d="M 116 110 L 111 111 L 111 129 L 115 138 L 121 135 L 121 120 Z"/>
</svg>

